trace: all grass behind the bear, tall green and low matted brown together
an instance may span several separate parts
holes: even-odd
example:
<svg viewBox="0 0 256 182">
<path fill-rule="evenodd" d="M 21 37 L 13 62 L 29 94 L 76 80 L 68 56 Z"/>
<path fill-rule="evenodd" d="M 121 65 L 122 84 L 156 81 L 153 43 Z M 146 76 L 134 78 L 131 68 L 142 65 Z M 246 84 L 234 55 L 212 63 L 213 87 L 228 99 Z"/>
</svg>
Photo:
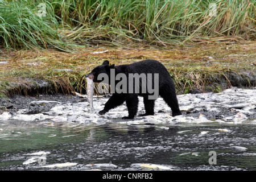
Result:
<svg viewBox="0 0 256 182">
<path fill-rule="evenodd" d="M 84 93 L 85 73 L 106 59 L 117 65 L 159 60 L 179 93 L 220 92 L 232 85 L 230 74 L 251 86 L 241 71 L 255 72 L 255 5 L 256 0 L 0 0 L 0 62 L 7 61 L 0 64 L 0 97 Z"/>
</svg>

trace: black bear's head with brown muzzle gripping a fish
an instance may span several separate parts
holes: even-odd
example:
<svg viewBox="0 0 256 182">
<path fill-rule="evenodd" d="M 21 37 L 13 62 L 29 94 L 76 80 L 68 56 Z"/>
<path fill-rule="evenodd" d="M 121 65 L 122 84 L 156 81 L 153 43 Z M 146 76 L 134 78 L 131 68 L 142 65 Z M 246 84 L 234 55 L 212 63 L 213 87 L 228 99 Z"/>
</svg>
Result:
<svg viewBox="0 0 256 182">
<path fill-rule="evenodd" d="M 110 78 L 110 69 L 114 68 L 115 64 L 109 65 L 109 61 L 105 60 L 102 65 L 99 65 L 98 67 L 94 68 L 92 72 L 85 75 L 85 77 L 88 77 L 93 80 L 93 82 L 101 82 L 102 80 L 98 80 L 98 75 L 101 73 L 105 73 Z"/>
</svg>

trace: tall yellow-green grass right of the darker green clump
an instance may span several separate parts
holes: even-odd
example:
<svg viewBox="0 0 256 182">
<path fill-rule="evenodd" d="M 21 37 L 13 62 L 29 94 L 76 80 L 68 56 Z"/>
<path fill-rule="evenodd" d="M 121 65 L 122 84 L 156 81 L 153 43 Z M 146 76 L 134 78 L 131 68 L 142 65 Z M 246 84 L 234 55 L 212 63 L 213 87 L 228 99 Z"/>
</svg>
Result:
<svg viewBox="0 0 256 182">
<path fill-rule="evenodd" d="M 192 38 L 255 38 L 255 0 L 55 1 L 65 23 L 78 26 L 69 38 L 89 42 L 148 40 L 185 43 Z M 210 3 L 216 16 L 210 16 Z M 77 36 L 79 35 L 79 36 Z"/>
</svg>

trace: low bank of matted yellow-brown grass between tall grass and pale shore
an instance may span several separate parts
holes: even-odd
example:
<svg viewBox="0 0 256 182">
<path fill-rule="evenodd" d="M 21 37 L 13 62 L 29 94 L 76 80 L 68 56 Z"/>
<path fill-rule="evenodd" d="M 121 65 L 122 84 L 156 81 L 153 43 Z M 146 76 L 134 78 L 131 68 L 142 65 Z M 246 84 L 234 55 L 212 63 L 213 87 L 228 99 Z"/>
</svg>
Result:
<svg viewBox="0 0 256 182">
<path fill-rule="evenodd" d="M 75 53 L 54 49 L 1 51 L 1 97 L 85 93 L 85 74 L 104 60 L 116 65 L 144 59 L 158 60 L 174 78 L 178 94 L 221 92 L 231 86 L 250 88 L 256 85 L 256 42 L 168 48 L 143 44 L 88 47 L 80 48 Z"/>
</svg>

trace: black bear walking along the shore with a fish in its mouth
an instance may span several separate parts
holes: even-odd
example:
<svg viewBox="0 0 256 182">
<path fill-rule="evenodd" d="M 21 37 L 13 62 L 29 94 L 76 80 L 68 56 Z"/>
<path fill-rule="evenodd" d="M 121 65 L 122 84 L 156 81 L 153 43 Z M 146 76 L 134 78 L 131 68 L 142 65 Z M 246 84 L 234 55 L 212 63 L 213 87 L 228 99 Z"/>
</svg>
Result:
<svg viewBox="0 0 256 182">
<path fill-rule="evenodd" d="M 138 111 L 138 96 L 143 97 L 146 110 L 146 113 L 139 116 L 154 115 L 154 103 L 158 94 L 171 107 L 173 116 L 181 114 L 174 81 L 164 65 L 156 60 L 148 59 L 118 66 L 110 65 L 106 60 L 86 77 L 93 79 L 94 82 L 104 82 L 102 75 L 105 76 L 105 83 L 116 90 L 112 92 L 113 95 L 106 102 L 104 109 L 99 112 L 101 115 L 126 101 L 129 115 L 123 119 L 133 119 Z M 137 81 L 134 81 L 136 78 Z M 153 97 L 155 93 L 152 91 L 155 91 L 156 97 Z"/>
</svg>

